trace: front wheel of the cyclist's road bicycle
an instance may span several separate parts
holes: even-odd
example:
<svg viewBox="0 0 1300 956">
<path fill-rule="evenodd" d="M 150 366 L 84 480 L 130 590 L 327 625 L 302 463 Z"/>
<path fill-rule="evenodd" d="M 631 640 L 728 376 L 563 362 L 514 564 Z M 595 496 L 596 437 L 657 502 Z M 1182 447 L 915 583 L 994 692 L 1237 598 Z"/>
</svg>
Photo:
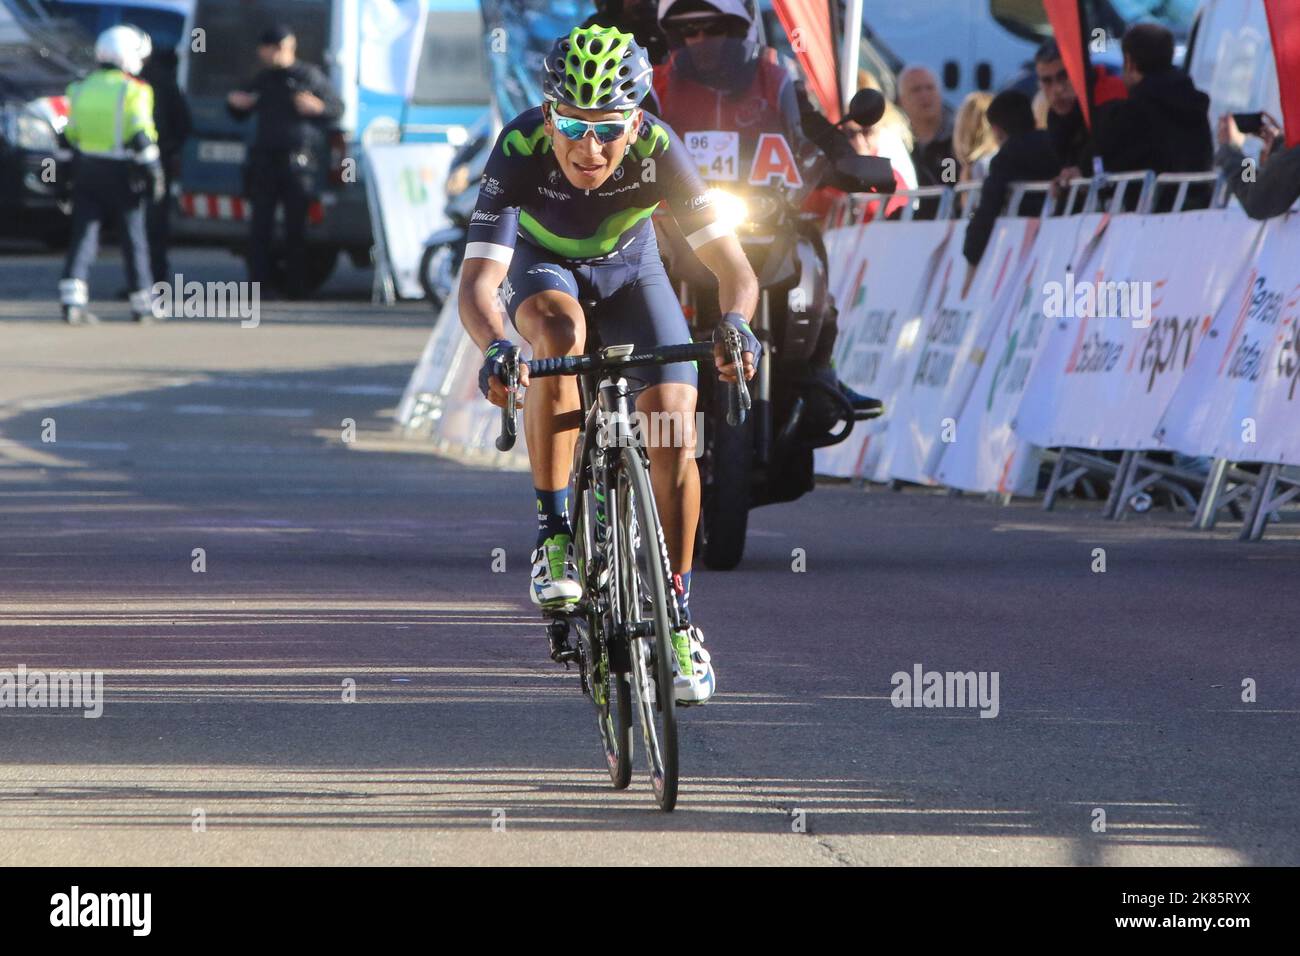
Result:
<svg viewBox="0 0 1300 956">
<path fill-rule="evenodd" d="M 650 475 L 641 450 L 625 447 L 608 502 L 618 554 L 618 609 L 629 632 L 632 684 L 655 800 L 677 804 L 677 711 L 672 692 L 672 623 L 668 554 Z"/>
</svg>

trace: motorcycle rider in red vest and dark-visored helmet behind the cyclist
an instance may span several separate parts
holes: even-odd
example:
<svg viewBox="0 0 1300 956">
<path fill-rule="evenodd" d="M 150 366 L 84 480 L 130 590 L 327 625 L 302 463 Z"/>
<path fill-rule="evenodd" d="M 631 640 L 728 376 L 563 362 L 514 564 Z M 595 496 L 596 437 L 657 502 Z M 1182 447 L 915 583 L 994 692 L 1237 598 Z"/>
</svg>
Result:
<svg viewBox="0 0 1300 956">
<path fill-rule="evenodd" d="M 789 148 L 784 160 L 786 169 L 793 166 L 793 177 L 816 163 L 818 152 L 831 160 L 853 153 L 846 137 L 816 112 L 802 83 L 779 62 L 776 51 L 759 43 L 753 0 L 660 0 L 659 25 L 671 49 L 667 62 L 655 69 L 660 116 L 682 138 L 694 130 L 740 134 L 736 155 L 722 157 L 720 178 L 742 178 L 760 134 L 784 137 Z M 819 235 L 814 246 L 826 268 Z M 837 332 L 837 310 L 828 302 L 809 359 L 811 376 L 837 388 L 855 411 L 880 408 L 878 399 L 858 394 L 835 375 L 831 356 Z M 819 399 L 815 394 L 810 401 L 812 421 L 829 428 L 836 411 L 829 401 Z"/>
</svg>

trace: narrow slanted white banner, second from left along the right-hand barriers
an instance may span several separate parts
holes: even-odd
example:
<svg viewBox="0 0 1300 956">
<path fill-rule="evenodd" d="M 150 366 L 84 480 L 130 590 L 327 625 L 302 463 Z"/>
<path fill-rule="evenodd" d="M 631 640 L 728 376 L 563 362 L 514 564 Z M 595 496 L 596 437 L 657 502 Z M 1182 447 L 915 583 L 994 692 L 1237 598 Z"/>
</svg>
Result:
<svg viewBox="0 0 1300 956">
<path fill-rule="evenodd" d="M 956 440 L 956 419 L 984 360 L 994 304 L 1010 284 L 1024 251 L 1023 219 L 998 220 L 970 281 L 962 255 L 962 229 L 944 250 L 922 313 L 915 343 L 904 365 L 897 403 L 875 467 L 875 480 L 933 484 L 941 445 Z"/>
</svg>

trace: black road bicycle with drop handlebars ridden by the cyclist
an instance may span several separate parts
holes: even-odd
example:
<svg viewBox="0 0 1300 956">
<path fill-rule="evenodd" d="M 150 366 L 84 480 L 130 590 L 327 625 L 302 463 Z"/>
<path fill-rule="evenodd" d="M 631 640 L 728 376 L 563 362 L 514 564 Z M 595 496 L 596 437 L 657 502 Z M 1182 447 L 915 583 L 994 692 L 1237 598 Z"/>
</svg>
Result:
<svg viewBox="0 0 1300 956">
<path fill-rule="evenodd" d="M 728 334 L 724 349 L 737 368 L 740 346 L 740 336 Z M 679 779 L 672 633 L 685 622 L 672 594 L 645 436 L 633 416 L 634 389 L 623 373 L 675 362 L 705 363 L 712 369 L 714 347 L 694 342 L 637 352 L 634 346 L 615 345 L 528 363 L 529 378 L 578 376 L 581 397 L 582 433 L 575 449 L 572 501 L 582 597 L 546 613 L 551 658 L 577 665 L 582 692 L 597 710 L 610 779 L 618 790 L 632 780 L 636 709 L 655 800 L 666 812 L 676 806 Z M 510 450 L 516 437 L 519 363 L 519 350 L 512 349 L 502 368 L 507 386 L 497 438 L 502 451 Z M 749 390 L 741 378 L 731 389 L 728 421 L 742 423 L 749 407 Z"/>
</svg>

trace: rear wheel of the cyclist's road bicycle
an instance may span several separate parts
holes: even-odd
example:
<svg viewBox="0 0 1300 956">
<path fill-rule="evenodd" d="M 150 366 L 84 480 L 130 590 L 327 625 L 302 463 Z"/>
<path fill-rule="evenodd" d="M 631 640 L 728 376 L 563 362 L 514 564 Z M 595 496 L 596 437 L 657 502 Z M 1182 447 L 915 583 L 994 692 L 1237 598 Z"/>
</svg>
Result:
<svg viewBox="0 0 1300 956">
<path fill-rule="evenodd" d="M 615 790 L 625 790 L 632 782 L 632 674 L 627 667 L 627 654 L 620 667 L 611 654 L 610 589 L 597 580 L 603 564 L 602 545 L 595 536 L 595 492 L 588 480 L 586 468 L 578 470 L 575 497 L 573 537 L 578 567 L 578 581 L 588 607 L 586 636 L 582 654 L 584 678 L 595 706 L 595 722 L 604 747 L 604 763 Z M 607 575 L 604 575 L 607 576 Z M 580 636 L 581 637 L 581 636 Z"/>
</svg>

